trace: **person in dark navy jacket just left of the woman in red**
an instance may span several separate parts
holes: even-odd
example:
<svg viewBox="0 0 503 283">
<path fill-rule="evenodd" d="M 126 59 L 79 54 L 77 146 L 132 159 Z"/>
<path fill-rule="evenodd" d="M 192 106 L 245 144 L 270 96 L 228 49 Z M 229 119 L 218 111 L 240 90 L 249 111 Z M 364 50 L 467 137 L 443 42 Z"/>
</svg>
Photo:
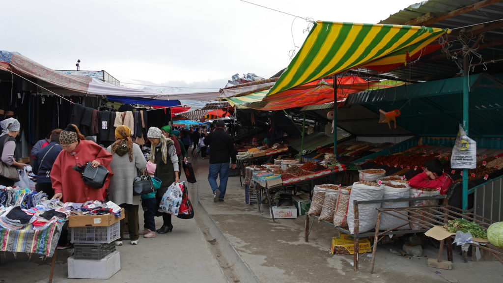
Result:
<svg viewBox="0 0 503 283">
<path fill-rule="evenodd" d="M 54 189 L 51 183 L 51 169 L 56 157 L 63 150 L 59 145 L 59 133 L 61 129 L 54 129 L 51 132 L 51 142 L 35 154 L 35 163 L 33 164 L 33 173 L 37 174 L 38 192 L 43 191 L 48 195 L 48 199 L 54 196 Z"/>
</svg>

